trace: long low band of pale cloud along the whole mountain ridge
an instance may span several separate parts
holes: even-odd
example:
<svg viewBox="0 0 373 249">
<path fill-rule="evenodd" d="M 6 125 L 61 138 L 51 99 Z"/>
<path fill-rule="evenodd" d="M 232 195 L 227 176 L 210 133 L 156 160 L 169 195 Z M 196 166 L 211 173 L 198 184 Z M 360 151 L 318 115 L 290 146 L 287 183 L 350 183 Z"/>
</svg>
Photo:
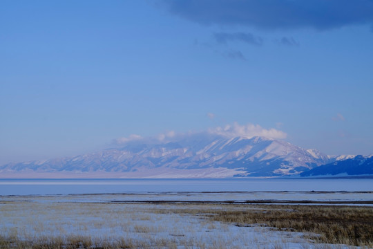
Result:
<svg viewBox="0 0 373 249">
<path fill-rule="evenodd" d="M 213 114 L 213 113 L 210 113 Z M 214 116 L 215 117 L 215 116 Z M 260 127 L 258 124 L 238 124 L 238 122 L 233 122 L 233 124 L 227 124 L 224 127 L 214 127 L 209 128 L 204 131 L 189 131 L 185 133 L 178 133 L 175 131 L 168 131 L 165 133 L 160 133 L 155 136 L 142 137 L 140 135 L 131 135 L 128 138 L 118 138 L 113 140 L 112 145 L 123 146 L 131 142 L 142 142 L 148 144 L 164 144 L 167 142 L 175 142 L 185 138 L 191 138 L 193 136 L 203 137 L 203 136 L 223 136 L 225 138 L 234 138 L 237 136 L 242 136 L 244 138 L 253 138 L 254 136 L 263 136 L 266 138 L 283 139 L 287 137 L 287 133 L 280 131 L 278 129 L 265 129 Z"/>
</svg>

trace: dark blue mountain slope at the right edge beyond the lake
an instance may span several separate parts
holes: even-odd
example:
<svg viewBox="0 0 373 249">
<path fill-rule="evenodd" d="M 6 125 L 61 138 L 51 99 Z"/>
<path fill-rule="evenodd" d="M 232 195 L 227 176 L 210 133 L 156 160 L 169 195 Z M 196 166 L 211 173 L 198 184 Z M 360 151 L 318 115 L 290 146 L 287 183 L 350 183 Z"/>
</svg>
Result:
<svg viewBox="0 0 373 249">
<path fill-rule="evenodd" d="M 334 163 L 321 165 L 300 176 L 358 176 L 373 174 L 373 155 L 339 156 Z"/>
</svg>

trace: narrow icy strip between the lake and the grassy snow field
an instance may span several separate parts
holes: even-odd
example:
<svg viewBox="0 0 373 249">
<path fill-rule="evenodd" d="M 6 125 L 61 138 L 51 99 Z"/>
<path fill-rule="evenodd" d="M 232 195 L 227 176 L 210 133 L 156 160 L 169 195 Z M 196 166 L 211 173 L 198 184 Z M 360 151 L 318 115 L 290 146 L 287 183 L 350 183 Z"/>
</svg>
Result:
<svg viewBox="0 0 373 249">
<path fill-rule="evenodd" d="M 356 201 L 373 201 L 373 192 L 146 192 L 123 194 L 68 194 L 68 195 L 27 195 L 0 196 L 0 201 L 28 202 L 72 202 L 72 203 L 287 203 L 304 201 L 321 202 L 330 205 L 352 205 Z M 307 203 L 309 204 L 309 203 Z M 317 203 L 320 204 L 320 203 Z M 353 205 L 372 205 L 358 204 Z"/>
</svg>

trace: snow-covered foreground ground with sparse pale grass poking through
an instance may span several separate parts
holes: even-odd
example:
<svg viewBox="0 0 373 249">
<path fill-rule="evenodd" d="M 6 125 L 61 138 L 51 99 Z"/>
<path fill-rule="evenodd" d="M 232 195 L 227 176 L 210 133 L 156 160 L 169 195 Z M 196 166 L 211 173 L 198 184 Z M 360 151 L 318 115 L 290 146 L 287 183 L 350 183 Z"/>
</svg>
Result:
<svg viewBox="0 0 373 249">
<path fill-rule="evenodd" d="M 71 203 L 86 201 L 86 196 L 71 197 L 32 196 L 33 201 L 2 197 L 0 235 L 28 241 L 69 236 L 92 241 L 124 239 L 139 248 L 352 248 L 312 243 L 300 232 L 215 222 L 204 214 L 165 212 L 205 208 L 208 213 L 211 208 L 229 210 L 231 205 Z"/>
</svg>

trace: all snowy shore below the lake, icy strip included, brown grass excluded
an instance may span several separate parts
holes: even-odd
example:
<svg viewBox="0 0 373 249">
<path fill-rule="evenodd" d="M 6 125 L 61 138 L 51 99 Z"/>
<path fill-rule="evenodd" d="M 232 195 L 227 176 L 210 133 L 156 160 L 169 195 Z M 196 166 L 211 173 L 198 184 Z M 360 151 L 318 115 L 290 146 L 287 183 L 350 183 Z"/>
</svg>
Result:
<svg viewBox="0 0 373 249">
<path fill-rule="evenodd" d="M 211 221 L 208 217 L 216 210 L 243 212 L 249 207 L 219 203 L 227 200 L 367 201 L 373 199 L 372 194 L 160 192 L 0 196 L 0 236 L 24 241 L 74 237 L 89 241 L 86 244 L 91 246 L 125 241 L 129 248 L 355 248 L 343 244 L 314 243 L 313 238 L 317 234 L 282 231 L 260 224 L 237 225 Z M 198 203 L 193 203 L 195 201 Z M 203 203 L 205 201 L 217 203 Z M 249 209 L 264 212 L 257 205 Z"/>
</svg>

